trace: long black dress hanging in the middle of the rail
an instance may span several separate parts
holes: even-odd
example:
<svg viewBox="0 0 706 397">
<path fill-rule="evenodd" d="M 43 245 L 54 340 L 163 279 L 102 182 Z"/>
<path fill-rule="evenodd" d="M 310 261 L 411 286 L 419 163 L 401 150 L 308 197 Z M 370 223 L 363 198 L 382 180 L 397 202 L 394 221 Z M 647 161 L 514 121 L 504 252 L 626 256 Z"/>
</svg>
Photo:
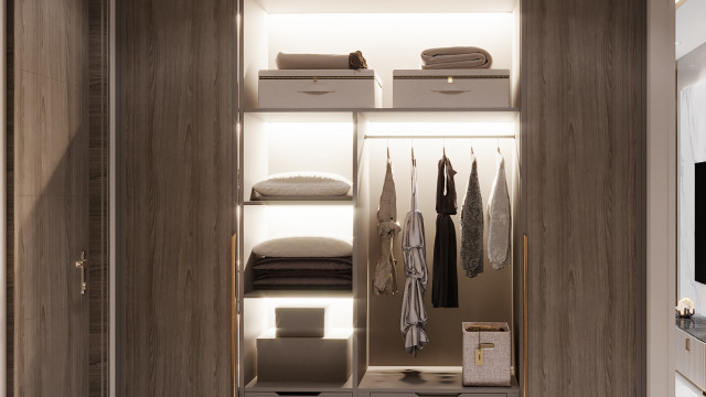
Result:
<svg viewBox="0 0 706 397">
<path fill-rule="evenodd" d="M 437 233 L 434 238 L 434 276 L 431 302 L 435 308 L 458 308 L 459 287 L 456 270 L 456 171 L 443 155 L 437 178 Z"/>
</svg>

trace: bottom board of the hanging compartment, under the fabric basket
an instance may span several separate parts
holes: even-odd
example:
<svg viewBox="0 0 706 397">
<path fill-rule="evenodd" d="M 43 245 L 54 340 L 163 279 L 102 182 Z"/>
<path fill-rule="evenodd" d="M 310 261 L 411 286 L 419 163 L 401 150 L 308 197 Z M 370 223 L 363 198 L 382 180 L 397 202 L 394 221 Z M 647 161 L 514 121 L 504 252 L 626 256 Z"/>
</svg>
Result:
<svg viewBox="0 0 706 397">
<path fill-rule="evenodd" d="M 371 366 L 365 372 L 359 389 L 384 389 L 391 393 L 404 393 L 422 389 L 443 390 L 446 393 L 507 393 L 520 390 L 517 380 L 512 377 L 510 387 L 464 387 L 460 366 Z"/>
</svg>

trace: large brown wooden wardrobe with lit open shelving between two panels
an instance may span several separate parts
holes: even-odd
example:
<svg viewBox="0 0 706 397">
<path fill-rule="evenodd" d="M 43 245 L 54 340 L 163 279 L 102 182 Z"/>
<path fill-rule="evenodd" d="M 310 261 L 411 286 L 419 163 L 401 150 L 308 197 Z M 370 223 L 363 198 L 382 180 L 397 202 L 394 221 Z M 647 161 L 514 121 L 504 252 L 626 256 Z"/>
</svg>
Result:
<svg viewBox="0 0 706 397">
<path fill-rule="evenodd" d="M 120 395 L 644 395 L 640 1 L 130 0 L 117 20 Z M 392 108 L 393 69 L 451 45 L 485 47 L 511 71 L 511 107 Z M 258 72 L 279 51 L 356 50 L 382 79 L 382 108 L 258 107 Z M 430 279 L 430 343 L 411 356 L 402 293 L 371 289 L 386 153 L 402 222 L 414 151 L 431 277 L 437 162 L 446 153 L 458 171 L 460 205 L 471 150 L 484 202 L 505 159 L 512 264 L 460 271 L 458 309 L 431 307 Z M 287 171 L 341 174 L 352 196 L 250 197 Z M 351 290 L 254 288 L 256 244 L 313 232 L 353 239 Z M 399 237 L 394 254 L 402 291 Z M 275 308 L 321 302 L 353 334 L 350 378 L 258 382 L 256 340 Z M 463 321 L 510 324 L 511 387 L 462 386 Z"/>
</svg>

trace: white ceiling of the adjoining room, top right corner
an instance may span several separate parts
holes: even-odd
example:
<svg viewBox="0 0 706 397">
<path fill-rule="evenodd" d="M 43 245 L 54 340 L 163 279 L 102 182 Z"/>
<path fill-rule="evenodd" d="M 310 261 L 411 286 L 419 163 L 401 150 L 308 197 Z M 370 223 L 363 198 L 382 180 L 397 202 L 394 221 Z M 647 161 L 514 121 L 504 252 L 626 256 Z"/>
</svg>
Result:
<svg viewBox="0 0 706 397">
<path fill-rule="evenodd" d="M 676 9 L 676 58 L 706 43 L 706 0 L 688 0 Z"/>
</svg>

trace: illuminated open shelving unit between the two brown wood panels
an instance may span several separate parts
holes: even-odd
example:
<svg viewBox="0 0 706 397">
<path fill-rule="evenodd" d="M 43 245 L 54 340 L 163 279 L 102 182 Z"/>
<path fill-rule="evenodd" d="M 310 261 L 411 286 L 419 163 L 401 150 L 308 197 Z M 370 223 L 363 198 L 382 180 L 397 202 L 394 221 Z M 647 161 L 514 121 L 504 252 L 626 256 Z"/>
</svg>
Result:
<svg viewBox="0 0 706 397">
<path fill-rule="evenodd" d="M 494 176 L 496 149 L 505 157 L 513 217 L 522 211 L 520 179 L 520 0 L 238 0 L 238 277 L 237 389 L 244 397 L 315 395 L 327 397 L 518 396 L 522 335 L 518 235 L 513 234 L 513 265 L 467 279 L 459 272 L 458 309 L 434 309 L 431 279 L 426 293 L 430 343 L 413 357 L 403 348 L 399 305 L 404 270 L 399 238 L 394 245 L 400 293 L 377 297 L 371 291 L 379 251 L 376 210 L 391 151 L 397 184 L 397 218 L 409 203 L 409 153 L 418 159 L 421 203 L 427 225 L 427 260 L 431 251 L 437 161 L 442 150 L 458 171 L 458 205 L 470 173 L 470 148 L 478 157 L 483 200 Z M 426 22 L 421 25 L 421 22 Z M 306 28 L 306 29 L 304 29 Z M 381 33 L 385 32 L 385 34 Z M 471 43 L 464 39 L 472 37 Z M 511 107 L 405 109 L 392 108 L 392 69 L 417 68 L 421 50 L 445 45 L 478 45 L 494 57 L 494 67 L 511 69 Z M 395 49 L 394 52 L 389 49 Z M 276 68 L 278 51 L 347 53 L 361 50 L 383 82 L 383 108 L 261 109 L 257 72 Z M 250 198 L 252 186 L 268 174 L 285 171 L 335 172 L 353 182 L 350 197 L 318 200 Z M 299 215 L 296 215 L 299 214 Z M 258 291 L 248 286 L 255 244 L 277 233 L 304 228 L 353 238 L 352 291 Z M 453 216 L 458 226 L 458 215 Z M 288 223 L 289 222 L 289 223 Z M 301 224 L 299 224 L 301 226 Z M 459 266 L 460 267 L 460 266 Z M 264 383 L 257 379 L 255 340 L 271 326 L 281 302 L 333 301 L 350 315 L 340 326 L 353 329 L 352 374 L 343 384 Z M 347 309 L 350 307 L 350 309 Z M 340 310 L 339 310 L 340 311 Z M 331 310 L 329 311 L 331 312 Z M 511 387 L 463 387 L 461 322 L 504 321 L 511 325 Z"/>
</svg>

